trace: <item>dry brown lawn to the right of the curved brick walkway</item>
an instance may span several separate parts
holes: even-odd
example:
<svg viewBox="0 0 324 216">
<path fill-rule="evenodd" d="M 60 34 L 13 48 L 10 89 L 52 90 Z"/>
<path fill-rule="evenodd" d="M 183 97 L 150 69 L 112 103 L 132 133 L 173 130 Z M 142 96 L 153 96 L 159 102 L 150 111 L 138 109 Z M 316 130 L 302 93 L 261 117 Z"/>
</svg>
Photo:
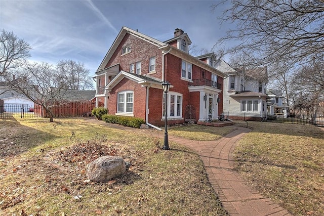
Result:
<svg viewBox="0 0 324 216">
<path fill-rule="evenodd" d="M 242 177 L 295 215 L 324 215 L 323 128 L 269 122 L 249 127 L 234 152 Z"/>
</svg>

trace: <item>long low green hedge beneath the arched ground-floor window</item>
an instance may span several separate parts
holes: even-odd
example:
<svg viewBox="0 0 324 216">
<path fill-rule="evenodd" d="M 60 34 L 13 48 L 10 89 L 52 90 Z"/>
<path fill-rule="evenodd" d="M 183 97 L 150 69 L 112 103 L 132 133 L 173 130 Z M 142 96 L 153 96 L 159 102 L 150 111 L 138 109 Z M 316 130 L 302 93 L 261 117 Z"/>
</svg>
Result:
<svg viewBox="0 0 324 216">
<path fill-rule="evenodd" d="M 117 116 L 117 115 L 104 114 L 101 116 L 101 118 L 102 118 L 102 120 L 104 120 L 107 123 L 121 124 L 121 125 L 129 126 L 129 127 L 140 128 L 141 124 L 145 124 L 145 121 L 142 118 L 134 118 L 134 117 L 128 117 L 128 116 Z"/>
</svg>

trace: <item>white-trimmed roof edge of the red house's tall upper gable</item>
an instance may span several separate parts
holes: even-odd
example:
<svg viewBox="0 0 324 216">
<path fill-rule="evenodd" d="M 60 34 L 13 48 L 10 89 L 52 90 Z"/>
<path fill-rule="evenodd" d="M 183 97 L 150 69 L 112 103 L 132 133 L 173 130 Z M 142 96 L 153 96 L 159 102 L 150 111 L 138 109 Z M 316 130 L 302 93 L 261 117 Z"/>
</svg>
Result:
<svg viewBox="0 0 324 216">
<path fill-rule="evenodd" d="M 108 50 L 107 54 L 105 55 L 104 59 L 102 60 L 99 68 L 97 69 L 97 72 L 105 69 L 105 66 L 107 65 L 109 59 L 114 54 L 114 52 L 116 51 L 117 47 L 119 46 L 121 40 L 123 40 L 124 36 L 127 33 L 129 33 L 131 35 L 134 35 L 136 37 L 139 37 L 139 38 L 141 38 L 141 39 L 149 42 L 150 44 L 155 45 L 156 47 L 160 47 L 160 46 L 166 45 L 164 42 L 161 42 L 161 41 L 159 41 L 157 39 L 154 39 L 153 37 L 147 36 L 145 34 L 142 34 L 142 33 L 138 32 L 138 31 L 135 31 L 133 29 L 130 29 L 128 27 L 123 26 L 120 29 L 117 37 L 113 41 L 113 43 L 112 43 L 110 49 Z"/>
</svg>

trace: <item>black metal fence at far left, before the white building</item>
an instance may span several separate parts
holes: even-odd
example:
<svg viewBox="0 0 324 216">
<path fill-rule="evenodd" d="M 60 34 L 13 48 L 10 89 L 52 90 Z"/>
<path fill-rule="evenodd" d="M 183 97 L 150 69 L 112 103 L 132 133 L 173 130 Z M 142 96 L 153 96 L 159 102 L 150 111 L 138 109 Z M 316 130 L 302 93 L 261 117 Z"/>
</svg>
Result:
<svg viewBox="0 0 324 216">
<path fill-rule="evenodd" d="M 37 118 L 42 117 L 36 114 L 37 108 L 28 104 L 11 104 L 0 106 L 0 118 Z"/>
</svg>

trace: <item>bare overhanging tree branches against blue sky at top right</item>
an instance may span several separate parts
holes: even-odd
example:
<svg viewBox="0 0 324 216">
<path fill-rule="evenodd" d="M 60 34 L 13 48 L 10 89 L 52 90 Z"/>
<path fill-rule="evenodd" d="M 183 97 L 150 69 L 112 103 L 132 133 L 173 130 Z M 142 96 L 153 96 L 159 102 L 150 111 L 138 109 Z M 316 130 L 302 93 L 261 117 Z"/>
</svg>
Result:
<svg viewBox="0 0 324 216">
<path fill-rule="evenodd" d="M 219 19 L 236 28 L 217 45 L 236 39 L 238 45 L 230 51 L 244 54 L 254 64 L 286 62 L 293 67 L 309 62 L 313 53 L 324 56 L 323 17 L 322 0 L 231 0 L 231 8 Z"/>
</svg>

